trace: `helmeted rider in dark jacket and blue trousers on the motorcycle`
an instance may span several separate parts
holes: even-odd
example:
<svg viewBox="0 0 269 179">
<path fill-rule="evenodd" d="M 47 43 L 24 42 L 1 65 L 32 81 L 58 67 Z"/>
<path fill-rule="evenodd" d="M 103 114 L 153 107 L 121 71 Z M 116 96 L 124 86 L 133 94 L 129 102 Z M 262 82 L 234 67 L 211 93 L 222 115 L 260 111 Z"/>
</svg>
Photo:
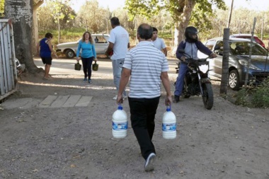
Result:
<svg viewBox="0 0 269 179">
<path fill-rule="evenodd" d="M 209 55 L 210 57 L 217 57 L 217 54 L 214 54 L 211 50 L 209 50 L 205 45 L 202 44 L 198 40 L 198 30 L 193 26 L 188 26 L 185 28 L 185 40 L 181 41 L 178 45 L 178 49 L 176 50 L 176 57 L 181 61 L 185 62 L 185 59 L 192 58 L 198 59 L 198 50 L 200 52 Z M 178 50 L 185 50 L 185 53 L 180 53 Z M 187 54 L 187 55 L 186 55 Z M 187 57 L 185 57 L 185 56 Z M 185 74 L 188 70 L 188 64 L 181 63 L 180 69 L 178 71 L 178 78 L 176 79 L 176 90 L 174 92 L 173 103 L 179 102 L 179 97 L 181 96 Z"/>
</svg>

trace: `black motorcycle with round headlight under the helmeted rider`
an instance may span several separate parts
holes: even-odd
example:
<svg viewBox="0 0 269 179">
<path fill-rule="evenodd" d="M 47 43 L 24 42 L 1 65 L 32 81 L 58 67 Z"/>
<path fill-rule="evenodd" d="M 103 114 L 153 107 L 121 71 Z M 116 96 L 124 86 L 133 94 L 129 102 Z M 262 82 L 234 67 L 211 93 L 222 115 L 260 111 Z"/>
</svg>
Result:
<svg viewBox="0 0 269 179">
<path fill-rule="evenodd" d="M 183 52 L 184 53 L 184 50 Z M 188 55 L 185 55 L 188 56 Z M 210 71 L 209 62 L 207 59 L 192 59 L 188 57 L 185 63 L 188 64 L 188 71 L 185 75 L 184 86 L 182 91 L 182 98 L 190 98 L 190 96 L 202 96 L 202 101 L 207 110 L 211 110 L 214 103 L 214 95 L 212 90 L 212 84 L 208 77 L 208 71 Z M 180 67 L 180 63 L 177 63 L 176 74 Z M 176 85 L 176 82 L 174 83 Z"/>
</svg>

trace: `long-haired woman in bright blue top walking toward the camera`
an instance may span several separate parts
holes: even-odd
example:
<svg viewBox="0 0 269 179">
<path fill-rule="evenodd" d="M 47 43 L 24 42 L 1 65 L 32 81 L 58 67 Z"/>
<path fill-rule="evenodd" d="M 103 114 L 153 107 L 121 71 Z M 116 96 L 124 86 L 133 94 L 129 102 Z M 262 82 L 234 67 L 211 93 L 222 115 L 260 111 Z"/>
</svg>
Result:
<svg viewBox="0 0 269 179">
<path fill-rule="evenodd" d="M 79 40 L 79 45 L 76 50 L 76 60 L 79 62 L 79 53 L 81 52 L 81 61 L 84 71 L 84 81 L 91 83 L 91 64 L 93 64 L 93 60 L 97 61 L 96 58 L 96 49 L 93 45 L 93 38 L 91 37 L 91 33 L 85 32 L 82 35 L 82 39 Z"/>
</svg>

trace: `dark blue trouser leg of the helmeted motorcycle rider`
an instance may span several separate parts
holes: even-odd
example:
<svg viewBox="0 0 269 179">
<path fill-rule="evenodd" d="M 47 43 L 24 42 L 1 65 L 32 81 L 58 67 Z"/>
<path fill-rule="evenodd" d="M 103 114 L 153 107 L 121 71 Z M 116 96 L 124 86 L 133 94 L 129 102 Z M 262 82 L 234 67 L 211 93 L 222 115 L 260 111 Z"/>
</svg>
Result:
<svg viewBox="0 0 269 179">
<path fill-rule="evenodd" d="M 184 78 L 188 70 L 188 65 L 181 63 L 181 66 L 178 71 L 178 78 L 176 78 L 176 90 L 174 95 L 181 96 L 183 86 L 184 86 Z"/>
</svg>

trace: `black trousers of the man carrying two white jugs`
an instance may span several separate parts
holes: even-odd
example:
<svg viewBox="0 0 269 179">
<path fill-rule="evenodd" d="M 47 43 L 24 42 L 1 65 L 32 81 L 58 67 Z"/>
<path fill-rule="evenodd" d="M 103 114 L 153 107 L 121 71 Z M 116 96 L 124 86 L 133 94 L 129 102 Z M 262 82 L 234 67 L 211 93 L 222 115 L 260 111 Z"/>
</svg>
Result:
<svg viewBox="0 0 269 179">
<path fill-rule="evenodd" d="M 159 105 L 157 98 L 128 98 L 131 112 L 132 129 L 140 146 L 141 154 L 145 160 L 149 154 L 155 152 L 151 139 L 155 128 L 155 114 Z"/>
</svg>

